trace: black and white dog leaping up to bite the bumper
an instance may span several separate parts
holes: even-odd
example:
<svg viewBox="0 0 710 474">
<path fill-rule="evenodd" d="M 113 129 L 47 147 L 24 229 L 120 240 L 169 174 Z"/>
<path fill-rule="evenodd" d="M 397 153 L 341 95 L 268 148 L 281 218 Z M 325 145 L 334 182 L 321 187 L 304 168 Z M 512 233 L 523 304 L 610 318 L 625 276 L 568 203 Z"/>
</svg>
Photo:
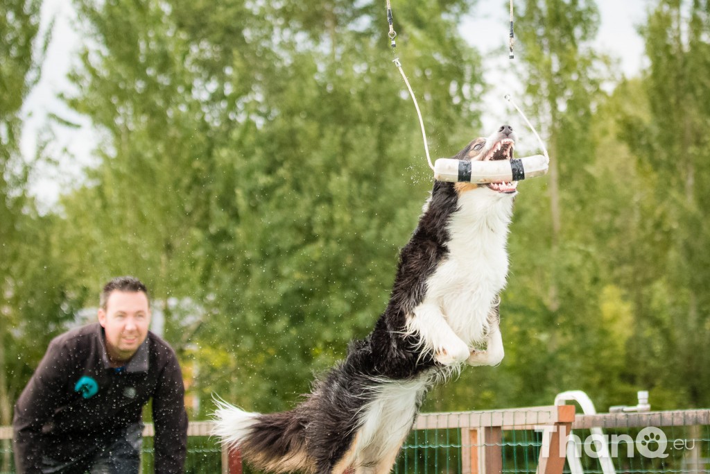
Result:
<svg viewBox="0 0 710 474">
<path fill-rule="evenodd" d="M 514 146 L 504 125 L 454 158 L 510 160 Z M 433 384 L 464 364 L 503 360 L 498 293 L 516 185 L 435 182 L 372 333 L 293 410 L 217 402 L 214 434 L 275 473 L 389 473 Z"/>
</svg>

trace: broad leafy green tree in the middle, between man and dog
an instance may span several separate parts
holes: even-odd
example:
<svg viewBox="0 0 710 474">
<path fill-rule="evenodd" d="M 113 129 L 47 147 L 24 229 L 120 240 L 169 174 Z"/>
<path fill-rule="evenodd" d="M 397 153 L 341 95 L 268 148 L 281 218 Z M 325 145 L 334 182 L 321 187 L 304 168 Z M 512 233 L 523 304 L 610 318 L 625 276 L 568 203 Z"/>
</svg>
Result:
<svg viewBox="0 0 710 474">
<path fill-rule="evenodd" d="M 383 311 L 431 183 L 383 8 L 76 5 L 95 46 L 69 102 L 105 138 L 62 199 L 77 281 L 145 279 L 192 394 L 292 404 Z M 465 8 L 396 12 L 435 155 L 478 124 L 480 59 L 453 21 Z"/>
</svg>

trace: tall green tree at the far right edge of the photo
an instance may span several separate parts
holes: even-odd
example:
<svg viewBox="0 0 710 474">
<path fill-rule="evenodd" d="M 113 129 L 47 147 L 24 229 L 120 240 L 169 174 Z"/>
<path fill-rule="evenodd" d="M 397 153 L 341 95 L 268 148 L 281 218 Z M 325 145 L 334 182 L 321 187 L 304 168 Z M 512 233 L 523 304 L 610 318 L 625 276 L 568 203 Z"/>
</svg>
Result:
<svg viewBox="0 0 710 474">
<path fill-rule="evenodd" d="M 659 1 L 642 30 L 650 60 L 640 87 L 643 107 L 620 113 L 621 136 L 652 190 L 649 205 L 640 209 L 643 237 L 652 244 L 634 262 L 644 278 L 633 288 L 639 319 L 634 354 L 638 360 L 662 357 L 667 378 L 652 370 L 634 376 L 691 406 L 709 402 L 710 383 L 703 369 L 710 360 L 698 350 L 710 342 L 704 205 L 710 198 L 709 27 L 706 1 Z"/>
</svg>

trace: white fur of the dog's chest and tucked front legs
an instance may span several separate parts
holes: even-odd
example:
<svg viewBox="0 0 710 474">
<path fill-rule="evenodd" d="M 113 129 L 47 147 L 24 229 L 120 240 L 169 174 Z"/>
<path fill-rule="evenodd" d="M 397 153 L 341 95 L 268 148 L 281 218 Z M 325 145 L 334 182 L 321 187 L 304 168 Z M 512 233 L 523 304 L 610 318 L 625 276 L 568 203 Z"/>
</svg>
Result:
<svg viewBox="0 0 710 474">
<path fill-rule="evenodd" d="M 449 254 L 427 280 L 427 292 L 408 321 L 408 330 L 437 352 L 457 339 L 469 348 L 488 333 L 488 312 L 506 285 L 510 195 L 476 189 L 459 197 L 449 222 Z M 461 348 L 464 350 L 464 348 Z"/>
</svg>

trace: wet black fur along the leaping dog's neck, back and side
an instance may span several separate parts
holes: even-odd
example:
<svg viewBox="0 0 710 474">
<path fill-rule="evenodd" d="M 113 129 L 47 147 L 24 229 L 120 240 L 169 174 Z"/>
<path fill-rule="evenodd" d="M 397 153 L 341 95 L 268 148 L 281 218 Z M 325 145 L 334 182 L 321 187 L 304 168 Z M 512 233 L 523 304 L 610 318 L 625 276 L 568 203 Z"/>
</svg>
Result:
<svg viewBox="0 0 710 474">
<path fill-rule="evenodd" d="M 427 279 L 448 253 L 447 224 L 457 200 L 452 183 L 435 182 L 429 207 L 400 252 L 389 303 L 372 333 L 349 345 L 346 359 L 315 383 L 305 402 L 291 411 L 260 415 L 251 436 L 241 443 L 245 458 L 252 453 L 279 459 L 301 451 L 317 473 L 329 473 L 351 446 L 358 415 L 368 392 L 378 385 L 376 379 L 412 379 L 435 367 L 432 355 L 422 353 L 418 341 L 402 333 L 406 315 L 422 302 Z"/>
</svg>

